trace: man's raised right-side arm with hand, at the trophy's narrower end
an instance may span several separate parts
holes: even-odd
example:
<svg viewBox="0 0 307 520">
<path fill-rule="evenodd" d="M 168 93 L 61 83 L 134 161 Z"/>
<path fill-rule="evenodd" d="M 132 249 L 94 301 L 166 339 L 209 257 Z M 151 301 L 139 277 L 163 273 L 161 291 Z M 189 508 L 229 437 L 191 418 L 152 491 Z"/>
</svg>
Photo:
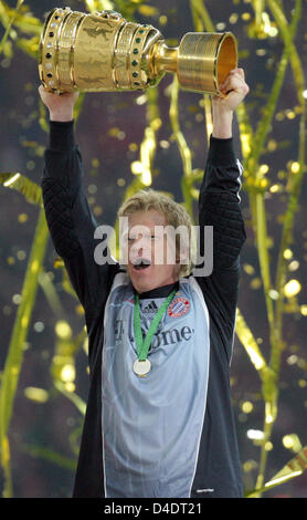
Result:
<svg viewBox="0 0 307 520">
<path fill-rule="evenodd" d="M 198 278 L 216 323 L 223 323 L 224 344 L 231 356 L 240 279 L 240 251 L 245 241 L 240 208 L 242 167 L 233 150 L 233 112 L 248 92 L 242 69 L 223 85 L 225 97 L 213 97 L 213 132 L 200 189 L 199 223 L 213 227 L 213 271 Z M 202 232 L 200 233 L 202 237 Z M 205 243 L 201 242 L 201 256 Z"/>
</svg>

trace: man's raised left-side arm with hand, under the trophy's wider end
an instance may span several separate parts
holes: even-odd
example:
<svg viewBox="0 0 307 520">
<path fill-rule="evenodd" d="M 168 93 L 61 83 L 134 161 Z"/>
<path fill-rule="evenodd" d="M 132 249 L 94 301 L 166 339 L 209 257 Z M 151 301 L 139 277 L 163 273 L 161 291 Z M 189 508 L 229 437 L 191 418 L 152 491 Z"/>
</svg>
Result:
<svg viewBox="0 0 307 520">
<path fill-rule="evenodd" d="M 83 189 L 82 157 L 74 137 L 73 108 L 78 94 L 59 96 L 43 86 L 39 92 L 50 112 L 50 142 L 42 178 L 47 226 L 91 326 L 104 294 L 107 297 L 117 264 L 98 266 L 94 259 L 97 225 Z"/>
</svg>

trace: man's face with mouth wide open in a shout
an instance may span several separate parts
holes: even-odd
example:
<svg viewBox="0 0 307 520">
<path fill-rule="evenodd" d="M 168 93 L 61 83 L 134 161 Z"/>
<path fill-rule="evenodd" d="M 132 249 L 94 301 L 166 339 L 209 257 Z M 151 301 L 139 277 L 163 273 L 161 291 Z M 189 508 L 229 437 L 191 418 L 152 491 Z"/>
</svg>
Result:
<svg viewBox="0 0 307 520">
<path fill-rule="evenodd" d="M 128 217 L 127 272 L 137 292 L 146 292 L 179 279 L 174 242 L 163 232 L 166 217 L 156 210 Z"/>
</svg>

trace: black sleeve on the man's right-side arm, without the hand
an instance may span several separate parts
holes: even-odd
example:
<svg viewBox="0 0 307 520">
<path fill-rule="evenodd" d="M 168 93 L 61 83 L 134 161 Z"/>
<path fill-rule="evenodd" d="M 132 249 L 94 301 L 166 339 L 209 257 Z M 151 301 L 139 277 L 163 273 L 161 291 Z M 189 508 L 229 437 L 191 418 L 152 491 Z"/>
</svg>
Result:
<svg viewBox="0 0 307 520">
<path fill-rule="evenodd" d="M 246 239 L 240 207 L 242 166 L 233 139 L 211 136 L 199 198 L 199 223 L 213 227 L 213 271 L 199 277 L 212 318 L 223 323 L 223 344 L 231 358 L 240 281 L 240 252 Z M 202 233 L 201 233 L 202 237 Z M 201 253 L 204 248 L 200 242 Z"/>
</svg>

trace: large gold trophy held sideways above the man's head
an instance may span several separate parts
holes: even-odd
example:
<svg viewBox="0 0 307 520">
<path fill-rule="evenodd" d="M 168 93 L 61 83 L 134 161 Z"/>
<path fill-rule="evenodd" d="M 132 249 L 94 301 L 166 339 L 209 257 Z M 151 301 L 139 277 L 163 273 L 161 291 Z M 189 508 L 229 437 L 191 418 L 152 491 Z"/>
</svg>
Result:
<svg viewBox="0 0 307 520">
<path fill-rule="evenodd" d="M 142 91 L 170 72 L 184 90 L 222 95 L 219 85 L 236 66 L 231 32 L 188 32 L 178 48 L 169 48 L 152 25 L 128 22 L 115 11 L 53 9 L 40 42 L 41 82 L 57 94 Z"/>
</svg>

